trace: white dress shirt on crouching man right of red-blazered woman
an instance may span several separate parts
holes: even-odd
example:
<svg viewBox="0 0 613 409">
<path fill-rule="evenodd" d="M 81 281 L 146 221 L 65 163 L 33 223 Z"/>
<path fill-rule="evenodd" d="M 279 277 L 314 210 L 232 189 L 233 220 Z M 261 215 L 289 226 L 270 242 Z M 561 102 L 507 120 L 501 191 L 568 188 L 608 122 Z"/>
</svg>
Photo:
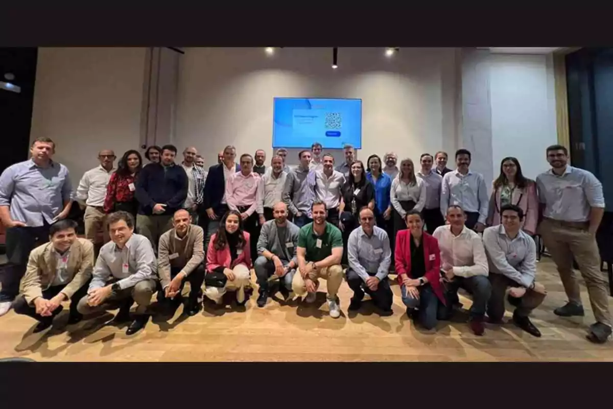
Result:
<svg viewBox="0 0 613 409">
<path fill-rule="evenodd" d="M 463 227 L 456 236 L 451 232 L 451 224 L 446 224 L 436 227 L 432 235 L 438 240 L 443 270 L 453 267 L 454 275 L 465 278 L 488 275 L 485 248 L 476 232 Z"/>
</svg>

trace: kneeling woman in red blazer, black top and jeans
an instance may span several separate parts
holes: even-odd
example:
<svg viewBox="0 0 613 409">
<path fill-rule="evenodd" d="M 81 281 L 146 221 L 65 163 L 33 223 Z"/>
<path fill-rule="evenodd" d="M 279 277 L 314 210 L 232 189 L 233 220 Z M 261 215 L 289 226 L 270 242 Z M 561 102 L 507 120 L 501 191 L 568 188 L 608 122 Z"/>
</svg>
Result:
<svg viewBox="0 0 613 409">
<path fill-rule="evenodd" d="M 398 232 L 395 264 L 406 314 L 426 329 L 436 326 L 446 313 L 440 281 L 441 252 L 438 241 L 424 232 L 417 210 L 406 212 L 408 229 Z"/>
</svg>

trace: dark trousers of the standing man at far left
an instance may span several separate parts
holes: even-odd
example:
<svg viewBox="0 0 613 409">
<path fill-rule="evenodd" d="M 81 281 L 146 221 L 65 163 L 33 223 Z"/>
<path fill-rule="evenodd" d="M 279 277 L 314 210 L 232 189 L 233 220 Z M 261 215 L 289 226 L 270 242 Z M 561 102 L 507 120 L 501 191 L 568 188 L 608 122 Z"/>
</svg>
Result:
<svg viewBox="0 0 613 409">
<path fill-rule="evenodd" d="M 26 273 L 30 252 L 49 240 L 47 221 L 39 227 L 10 227 L 6 230 L 7 264 L 0 270 L 0 302 L 12 301 L 19 294 L 19 283 Z"/>
</svg>

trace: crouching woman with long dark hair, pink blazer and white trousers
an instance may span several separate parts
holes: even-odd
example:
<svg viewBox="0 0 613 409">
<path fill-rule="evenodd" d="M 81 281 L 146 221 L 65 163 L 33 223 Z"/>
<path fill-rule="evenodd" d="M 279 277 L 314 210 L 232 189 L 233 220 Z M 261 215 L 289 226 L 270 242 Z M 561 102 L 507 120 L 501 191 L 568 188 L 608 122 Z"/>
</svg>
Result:
<svg viewBox="0 0 613 409">
<path fill-rule="evenodd" d="M 227 212 L 217 232 L 211 236 L 207 250 L 207 275 L 204 294 L 221 305 L 228 290 L 236 291 L 238 305 L 245 305 L 245 288 L 251 278 L 249 233 L 237 210 Z"/>
</svg>

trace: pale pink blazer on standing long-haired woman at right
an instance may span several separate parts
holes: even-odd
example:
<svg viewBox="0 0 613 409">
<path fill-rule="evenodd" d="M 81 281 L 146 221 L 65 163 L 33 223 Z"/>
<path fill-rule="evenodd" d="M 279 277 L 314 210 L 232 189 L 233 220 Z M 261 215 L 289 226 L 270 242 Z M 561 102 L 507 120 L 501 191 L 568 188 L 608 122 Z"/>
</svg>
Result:
<svg viewBox="0 0 613 409">
<path fill-rule="evenodd" d="M 490 197 L 489 211 L 487 212 L 487 225 L 496 226 L 500 224 L 500 191 L 498 188 L 492 191 Z M 529 234 L 536 234 L 536 225 L 538 224 L 538 197 L 536 196 L 536 183 L 533 180 L 528 180 L 528 186 L 524 189 L 515 189 L 511 203 L 517 205 L 524 210 L 524 231 Z"/>
</svg>

